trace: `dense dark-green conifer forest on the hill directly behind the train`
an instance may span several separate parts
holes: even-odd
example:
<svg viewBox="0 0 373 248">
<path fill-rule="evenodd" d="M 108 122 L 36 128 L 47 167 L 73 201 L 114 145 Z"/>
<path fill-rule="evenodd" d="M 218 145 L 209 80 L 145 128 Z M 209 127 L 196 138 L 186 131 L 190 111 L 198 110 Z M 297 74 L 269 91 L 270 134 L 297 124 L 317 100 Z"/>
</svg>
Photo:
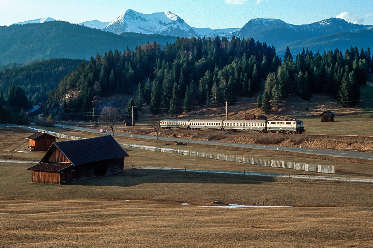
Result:
<svg viewBox="0 0 373 248">
<path fill-rule="evenodd" d="M 87 111 L 93 96 L 129 93 L 137 85 L 137 106 L 146 102 L 154 114 L 175 115 L 177 107 L 188 111 L 197 104 L 233 104 L 237 96 L 255 94 L 266 79 L 265 112 L 289 95 L 309 100 L 316 93 L 352 106 L 370 66 L 369 48 L 359 52 L 351 47 L 344 54 L 338 49 L 323 54 L 304 51 L 295 61 L 288 49 L 281 62 L 275 48 L 254 39 L 178 38 L 164 49 L 152 43 L 135 51 L 97 54 L 66 75 L 50 100 L 78 90 L 77 98 L 64 99 L 63 109 Z"/>
</svg>

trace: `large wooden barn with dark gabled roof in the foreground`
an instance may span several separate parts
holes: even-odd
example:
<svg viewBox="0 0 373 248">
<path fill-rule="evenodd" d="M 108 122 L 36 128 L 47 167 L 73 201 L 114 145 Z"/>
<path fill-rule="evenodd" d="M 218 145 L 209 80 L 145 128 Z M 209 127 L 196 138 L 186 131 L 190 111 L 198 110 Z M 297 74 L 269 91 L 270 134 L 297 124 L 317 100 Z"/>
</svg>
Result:
<svg viewBox="0 0 373 248">
<path fill-rule="evenodd" d="M 127 152 L 111 135 L 54 142 L 31 171 L 33 183 L 64 184 L 123 171 Z"/>
</svg>

